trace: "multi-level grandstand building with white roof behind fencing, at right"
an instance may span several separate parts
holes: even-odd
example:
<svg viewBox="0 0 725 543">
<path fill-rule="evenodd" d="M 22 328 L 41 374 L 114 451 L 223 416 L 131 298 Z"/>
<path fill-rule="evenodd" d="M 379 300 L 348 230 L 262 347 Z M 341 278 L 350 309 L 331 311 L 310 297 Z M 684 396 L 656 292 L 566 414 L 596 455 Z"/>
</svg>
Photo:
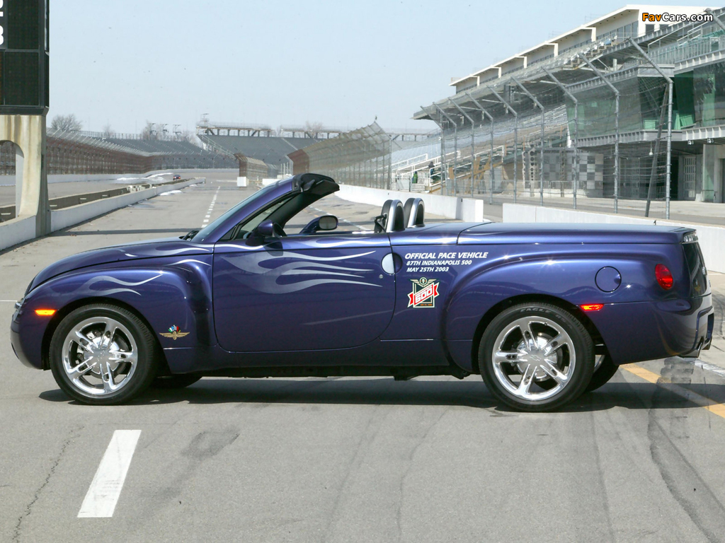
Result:
<svg viewBox="0 0 725 543">
<path fill-rule="evenodd" d="M 488 175 L 495 190 L 723 202 L 723 19 L 627 5 L 453 79 L 453 96 L 413 118 L 455 134 L 448 177 Z M 469 133 L 471 151 L 457 145 Z"/>
</svg>

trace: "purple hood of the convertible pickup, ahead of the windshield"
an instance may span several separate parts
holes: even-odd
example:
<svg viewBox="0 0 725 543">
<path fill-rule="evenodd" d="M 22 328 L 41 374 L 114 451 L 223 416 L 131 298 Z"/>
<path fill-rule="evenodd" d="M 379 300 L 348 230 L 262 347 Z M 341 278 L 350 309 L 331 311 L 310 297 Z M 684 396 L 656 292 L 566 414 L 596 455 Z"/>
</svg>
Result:
<svg viewBox="0 0 725 543">
<path fill-rule="evenodd" d="M 192 241 L 180 240 L 178 237 L 167 237 L 162 240 L 146 240 L 125 245 L 114 245 L 94 251 L 86 251 L 77 255 L 67 256 L 47 266 L 28 285 L 25 294 L 48 279 L 65 274 L 67 271 L 98 266 L 99 264 L 110 264 L 112 262 L 123 262 L 139 260 L 141 258 L 159 258 L 164 256 L 178 255 L 200 255 L 211 253 L 212 248 L 207 245 L 199 245 Z"/>
</svg>

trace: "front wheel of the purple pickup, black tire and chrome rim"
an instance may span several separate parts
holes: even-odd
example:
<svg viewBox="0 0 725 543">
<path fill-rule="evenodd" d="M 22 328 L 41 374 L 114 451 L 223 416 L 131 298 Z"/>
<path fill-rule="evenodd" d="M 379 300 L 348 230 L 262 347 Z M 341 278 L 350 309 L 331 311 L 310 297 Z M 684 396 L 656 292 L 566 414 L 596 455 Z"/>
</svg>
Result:
<svg viewBox="0 0 725 543">
<path fill-rule="evenodd" d="M 68 313 L 53 334 L 49 354 L 61 390 L 94 405 L 128 402 L 149 386 L 157 368 L 157 345 L 146 324 L 109 304 Z"/>
</svg>

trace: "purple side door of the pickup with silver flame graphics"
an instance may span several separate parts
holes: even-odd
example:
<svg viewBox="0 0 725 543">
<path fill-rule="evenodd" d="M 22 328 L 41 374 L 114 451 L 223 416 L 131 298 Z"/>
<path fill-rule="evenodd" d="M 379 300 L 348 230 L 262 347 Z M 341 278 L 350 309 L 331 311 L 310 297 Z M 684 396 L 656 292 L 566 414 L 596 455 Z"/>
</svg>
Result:
<svg viewBox="0 0 725 543">
<path fill-rule="evenodd" d="M 375 340 L 394 309 L 394 275 L 382 266 L 390 253 L 385 234 L 218 243 L 214 321 L 221 347 L 319 350 Z"/>
</svg>

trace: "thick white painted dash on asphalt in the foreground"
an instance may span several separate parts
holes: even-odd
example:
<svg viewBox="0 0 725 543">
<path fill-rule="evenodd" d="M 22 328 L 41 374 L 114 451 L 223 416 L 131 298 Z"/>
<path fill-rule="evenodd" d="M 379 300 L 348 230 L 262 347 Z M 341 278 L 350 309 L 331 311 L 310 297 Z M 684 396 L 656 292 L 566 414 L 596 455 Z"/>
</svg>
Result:
<svg viewBox="0 0 725 543">
<path fill-rule="evenodd" d="M 78 518 L 109 518 L 123 489 L 141 430 L 116 430 L 91 481 Z"/>
</svg>

